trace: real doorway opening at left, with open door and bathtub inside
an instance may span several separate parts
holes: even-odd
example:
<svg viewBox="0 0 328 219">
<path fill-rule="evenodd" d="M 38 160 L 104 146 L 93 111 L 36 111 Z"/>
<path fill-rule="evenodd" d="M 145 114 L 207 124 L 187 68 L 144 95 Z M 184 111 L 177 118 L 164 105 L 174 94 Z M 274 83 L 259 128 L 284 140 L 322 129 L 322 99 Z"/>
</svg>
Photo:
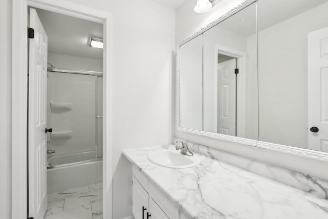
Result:
<svg viewBox="0 0 328 219">
<path fill-rule="evenodd" d="M 28 216 L 102 217 L 103 24 L 28 14 Z"/>
</svg>

